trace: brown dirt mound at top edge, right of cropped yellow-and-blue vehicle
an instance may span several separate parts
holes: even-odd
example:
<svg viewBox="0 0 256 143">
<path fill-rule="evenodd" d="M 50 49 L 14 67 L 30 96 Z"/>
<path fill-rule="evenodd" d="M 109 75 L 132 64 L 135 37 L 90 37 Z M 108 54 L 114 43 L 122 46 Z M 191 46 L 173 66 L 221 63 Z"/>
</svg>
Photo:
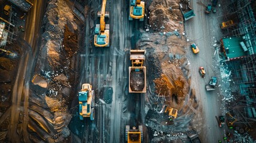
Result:
<svg viewBox="0 0 256 143">
<path fill-rule="evenodd" d="M 183 15 L 178 5 L 180 0 L 153 0 L 149 7 L 149 24 L 155 31 L 171 32 L 175 29 L 184 31 Z"/>
</svg>

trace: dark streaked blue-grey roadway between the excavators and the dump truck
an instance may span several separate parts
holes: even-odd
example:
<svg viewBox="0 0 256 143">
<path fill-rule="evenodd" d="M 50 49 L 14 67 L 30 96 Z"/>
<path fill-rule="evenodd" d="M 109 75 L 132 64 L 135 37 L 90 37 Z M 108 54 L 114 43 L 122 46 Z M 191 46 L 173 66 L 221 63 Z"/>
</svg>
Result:
<svg viewBox="0 0 256 143">
<path fill-rule="evenodd" d="M 91 2 L 91 8 L 93 7 L 95 12 L 100 10 L 96 5 L 101 5 L 101 1 Z M 106 18 L 106 24 L 110 24 L 110 47 L 95 48 L 93 43 L 89 44 L 90 40 L 93 41 L 94 29 L 85 27 L 85 54 L 81 55 L 81 84 L 91 83 L 95 91 L 100 91 L 103 86 L 112 86 L 113 102 L 106 105 L 100 101 L 97 102 L 99 106 L 95 111 L 95 121 L 85 125 L 87 131 L 85 139 L 82 140 L 86 142 L 92 141 L 88 134 L 96 133 L 91 131 L 94 125 L 97 126 L 98 137 L 101 138 L 98 142 L 125 142 L 125 125 L 129 125 L 129 120 L 136 121 L 135 116 L 129 116 L 128 113 L 128 111 L 134 113 L 135 109 L 127 110 L 127 104 L 132 102 L 132 106 L 135 97 L 131 95 L 132 98 L 128 99 L 130 95 L 128 94 L 128 66 L 130 64 L 129 49 L 135 48 L 135 42 L 138 40 L 132 35 L 132 30 L 138 29 L 139 21 L 128 21 L 128 1 L 107 1 L 106 10 L 110 11 L 110 18 Z M 96 23 L 99 24 L 99 18 L 95 20 L 94 24 Z M 137 107 L 140 108 L 140 99 Z M 135 126 L 137 123 L 132 122 L 132 125 Z"/>
</svg>

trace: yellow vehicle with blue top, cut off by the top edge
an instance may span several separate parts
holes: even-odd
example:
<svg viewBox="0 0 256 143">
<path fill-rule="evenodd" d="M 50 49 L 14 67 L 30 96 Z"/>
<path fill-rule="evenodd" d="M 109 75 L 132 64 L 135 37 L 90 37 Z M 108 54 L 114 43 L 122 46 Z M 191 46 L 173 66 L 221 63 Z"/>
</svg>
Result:
<svg viewBox="0 0 256 143">
<path fill-rule="evenodd" d="M 141 0 L 129 0 L 129 20 L 140 19 L 144 21 L 145 2 Z"/>
</svg>

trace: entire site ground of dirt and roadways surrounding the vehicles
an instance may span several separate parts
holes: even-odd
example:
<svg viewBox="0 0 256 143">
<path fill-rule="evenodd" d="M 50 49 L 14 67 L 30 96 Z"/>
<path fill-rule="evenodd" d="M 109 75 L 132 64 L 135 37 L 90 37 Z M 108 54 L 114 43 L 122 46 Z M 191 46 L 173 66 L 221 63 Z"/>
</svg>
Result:
<svg viewBox="0 0 256 143">
<path fill-rule="evenodd" d="M 206 15 L 206 2 L 190 1 L 196 16 L 184 21 L 178 0 L 145 0 L 140 22 L 128 20 L 128 1 L 107 1 L 110 47 L 96 48 L 101 2 L 51 0 L 42 3 L 45 13 L 36 11 L 41 3 L 33 3 L 30 16 L 42 14 L 38 34 L 19 35 L 29 36 L 32 48 L 17 39 L 7 48 L 18 57 L 0 57 L 0 142 L 125 142 L 125 125 L 143 125 L 144 142 L 190 142 L 186 133 L 192 129 L 202 142 L 223 140 L 227 132 L 234 133 L 233 142 L 252 141 L 247 133 L 219 128 L 218 116 L 227 112 L 226 92 L 219 86 L 205 90 L 211 76 L 226 84 L 214 46 L 223 36 L 224 2 L 217 13 Z M 192 43 L 199 54 L 193 54 Z M 146 94 L 128 93 L 129 49 L 146 50 Z M 79 120 L 77 93 L 83 83 L 95 91 L 94 121 Z M 109 86 L 113 101 L 106 103 L 100 92 Z M 164 105 L 178 110 L 176 119 L 164 113 Z"/>
</svg>

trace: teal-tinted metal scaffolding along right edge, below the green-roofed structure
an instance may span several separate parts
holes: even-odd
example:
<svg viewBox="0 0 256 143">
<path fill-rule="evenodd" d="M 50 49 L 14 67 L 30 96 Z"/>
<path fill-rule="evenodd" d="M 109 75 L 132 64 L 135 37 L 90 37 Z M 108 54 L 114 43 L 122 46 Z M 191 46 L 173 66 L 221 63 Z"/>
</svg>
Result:
<svg viewBox="0 0 256 143">
<path fill-rule="evenodd" d="M 233 102 L 235 107 L 230 106 L 229 110 L 239 112 L 240 117 L 251 126 L 249 120 L 256 121 L 256 54 L 227 61 L 227 64 L 233 71 L 233 82 L 239 86 L 238 100 Z"/>
</svg>

